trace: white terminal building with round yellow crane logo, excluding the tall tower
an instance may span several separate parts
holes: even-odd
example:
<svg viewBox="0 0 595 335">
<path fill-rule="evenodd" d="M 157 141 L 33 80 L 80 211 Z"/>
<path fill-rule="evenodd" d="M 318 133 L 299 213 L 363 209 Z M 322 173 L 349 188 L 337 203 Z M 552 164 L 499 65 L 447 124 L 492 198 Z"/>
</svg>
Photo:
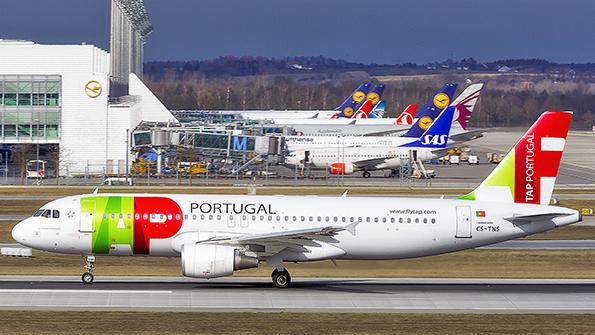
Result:
<svg viewBox="0 0 595 335">
<path fill-rule="evenodd" d="M 174 121 L 134 75 L 110 99 L 110 55 L 93 45 L 0 40 L 0 143 L 59 145 L 60 175 L 125 173 L 126 133 Z"/>
</svg>

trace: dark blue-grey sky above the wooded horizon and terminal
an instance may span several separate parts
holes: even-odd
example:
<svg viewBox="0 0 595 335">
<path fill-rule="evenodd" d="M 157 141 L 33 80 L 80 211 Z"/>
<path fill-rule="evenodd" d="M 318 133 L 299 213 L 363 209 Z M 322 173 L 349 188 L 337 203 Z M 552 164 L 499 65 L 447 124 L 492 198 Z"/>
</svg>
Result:
<svg viewBox="0 0 595 335">
<path fill-rule="evenodd" d="M 109 46 L 109 0 L 1 0 L 0 38 Z M 145 61 L 595 62 L 592 0 L 145 0 Z M 0 55 L 1 61 L 2 55 Z"/>
</svg>

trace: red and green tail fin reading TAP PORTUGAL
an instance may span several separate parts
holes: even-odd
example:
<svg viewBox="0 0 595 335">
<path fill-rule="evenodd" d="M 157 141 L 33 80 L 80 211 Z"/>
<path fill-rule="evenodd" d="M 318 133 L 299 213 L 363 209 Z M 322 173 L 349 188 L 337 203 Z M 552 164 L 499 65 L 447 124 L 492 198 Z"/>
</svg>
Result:
<svg viewBox="0 0 595 335">
<path fill-rule="evenodd" d="M 572 112 L 545 112 L 465 200 L 549 204 Z"/>
</svg>

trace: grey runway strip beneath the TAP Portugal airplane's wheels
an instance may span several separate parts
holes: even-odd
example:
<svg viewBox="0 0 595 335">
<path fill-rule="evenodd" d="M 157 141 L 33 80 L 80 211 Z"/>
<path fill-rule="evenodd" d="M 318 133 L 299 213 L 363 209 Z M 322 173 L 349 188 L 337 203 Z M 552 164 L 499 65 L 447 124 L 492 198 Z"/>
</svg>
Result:
<svg viewBox="0 0 595 335">
<path fill-rule="evenodd" d="M 1 309 L 595 313 L 595 280 L 0 277 Z"/>
</svg>

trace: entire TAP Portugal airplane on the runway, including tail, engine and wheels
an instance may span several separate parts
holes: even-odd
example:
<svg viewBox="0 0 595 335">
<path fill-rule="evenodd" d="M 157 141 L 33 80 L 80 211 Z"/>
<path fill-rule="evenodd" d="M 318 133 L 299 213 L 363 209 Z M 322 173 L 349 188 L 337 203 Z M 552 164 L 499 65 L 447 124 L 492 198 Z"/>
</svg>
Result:
<svg viewBox="0 0 595 335">
<path fill-rule="evenodd" d="M 22 245 L 86 258 L 181 257 L 194 278 L 266 262 L 401 259 L 476 248 L 582 220 L 550 206 L 571 112 L 546 112 L 473 192 L 457 199 L 250 195 L 88 194 L 54 200 L 18 223 Z M 133 261 L 133 260 L 131 260 Z M 364 272 L 362 272 L 365 274 Z"/>
</svg>

